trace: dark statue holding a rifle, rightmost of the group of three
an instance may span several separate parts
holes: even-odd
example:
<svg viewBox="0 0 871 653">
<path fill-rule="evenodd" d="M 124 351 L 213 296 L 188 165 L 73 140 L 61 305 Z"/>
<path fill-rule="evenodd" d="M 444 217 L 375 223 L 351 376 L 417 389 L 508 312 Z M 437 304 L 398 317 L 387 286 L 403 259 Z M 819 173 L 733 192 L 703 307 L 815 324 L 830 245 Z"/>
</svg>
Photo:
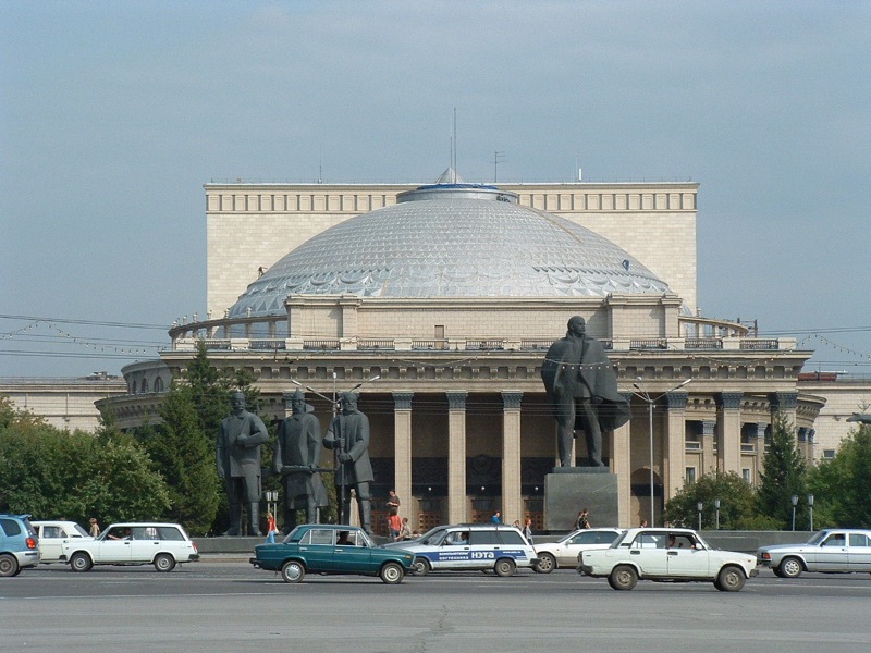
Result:
<svg viewBox="0 0 871 653">
<path fill-rule="evenodd" d="M 372 534 L 372 508 L 369 485 L 375 480 L 369 460 L 369 418 L 357 410 L 357 394 L 340 395 L 340 411 L 330 422 L 323 446 L 335 449 L 335 493 L 339 497 L 339 523 L 351 523 L 351 490 L 357 494 L 360 527 Z"/>
</svg>

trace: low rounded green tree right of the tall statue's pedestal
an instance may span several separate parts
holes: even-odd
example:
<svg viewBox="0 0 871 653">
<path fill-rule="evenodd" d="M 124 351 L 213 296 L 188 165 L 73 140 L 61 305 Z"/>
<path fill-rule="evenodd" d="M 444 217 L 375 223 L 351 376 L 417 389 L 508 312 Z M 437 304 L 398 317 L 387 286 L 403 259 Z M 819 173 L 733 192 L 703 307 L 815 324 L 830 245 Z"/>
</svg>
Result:
<svg viewBox="0 0 871 653">
<path fill-rule="evenodd" d="M 702 528 L 716 528 L 716 508 L 720 500 L 720 528 L 743 530 L 760 528 L 756 507 L 756 493 L 738 473 L 709 473 L 695 483 L 684 485 L 665 505 L 664 519 L 675 526 L 697 528 L 698 504 L 702 503 Z M 761 526 L 764 528 L 764 523 Z"/>
</svg>

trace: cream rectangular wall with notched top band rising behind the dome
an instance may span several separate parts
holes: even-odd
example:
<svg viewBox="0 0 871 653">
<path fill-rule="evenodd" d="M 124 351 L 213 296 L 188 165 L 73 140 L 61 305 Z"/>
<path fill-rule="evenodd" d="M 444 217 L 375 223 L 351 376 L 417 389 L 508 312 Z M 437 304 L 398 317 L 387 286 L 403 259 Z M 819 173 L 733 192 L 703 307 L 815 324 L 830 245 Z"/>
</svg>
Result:
<svg viewBox="0 0 871 653">
<path fill-rule="evenodd" d="M 259 268 L 417 184 L 206 184 L 207 308 L 219 318 Z M 499 184 L 615 243 L 696 306 L 696 183 Z M 192 309 L 193 310 L 193 309 Z"/>
</svg>

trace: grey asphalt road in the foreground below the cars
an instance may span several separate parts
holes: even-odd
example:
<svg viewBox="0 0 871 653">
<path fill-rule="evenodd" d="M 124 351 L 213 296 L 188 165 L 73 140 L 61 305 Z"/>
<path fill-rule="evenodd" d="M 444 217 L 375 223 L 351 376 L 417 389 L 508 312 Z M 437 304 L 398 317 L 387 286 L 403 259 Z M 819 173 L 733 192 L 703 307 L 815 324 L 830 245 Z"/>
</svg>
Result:
<svg viewBox="0 0 871 653">
<path fill-rule="evenodd" d="M 0 651 L 869 651 L 869 575 L 762 571 L 738 593 L 639 582 L 615 592 L 571 570 L 513 578 L 308 577 L 245 563 L 171 574 L 58 565 L 0 579 Z"/>
</svg>

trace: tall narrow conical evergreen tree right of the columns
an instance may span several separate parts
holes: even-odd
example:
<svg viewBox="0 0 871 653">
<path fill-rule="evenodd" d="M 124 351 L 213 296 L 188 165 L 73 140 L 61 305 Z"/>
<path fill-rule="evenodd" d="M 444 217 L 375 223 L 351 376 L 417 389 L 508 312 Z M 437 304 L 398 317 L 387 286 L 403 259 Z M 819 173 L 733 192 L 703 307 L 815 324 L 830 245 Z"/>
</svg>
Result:
<svg viewBox="0 0 871 653">
<path fill-rule="evenodd" d="M 780 528 L 792 526 L 792 497 L 807 497 L 807 465 L 796 446 L 796 430 L 782 412 L 774 415 L 771 443 L 762 460 L 762 482 L 757 492 L 759 512 Z M 807 521 L 807 502 L 796 506 L 796 525 Z"/>
</svg>

